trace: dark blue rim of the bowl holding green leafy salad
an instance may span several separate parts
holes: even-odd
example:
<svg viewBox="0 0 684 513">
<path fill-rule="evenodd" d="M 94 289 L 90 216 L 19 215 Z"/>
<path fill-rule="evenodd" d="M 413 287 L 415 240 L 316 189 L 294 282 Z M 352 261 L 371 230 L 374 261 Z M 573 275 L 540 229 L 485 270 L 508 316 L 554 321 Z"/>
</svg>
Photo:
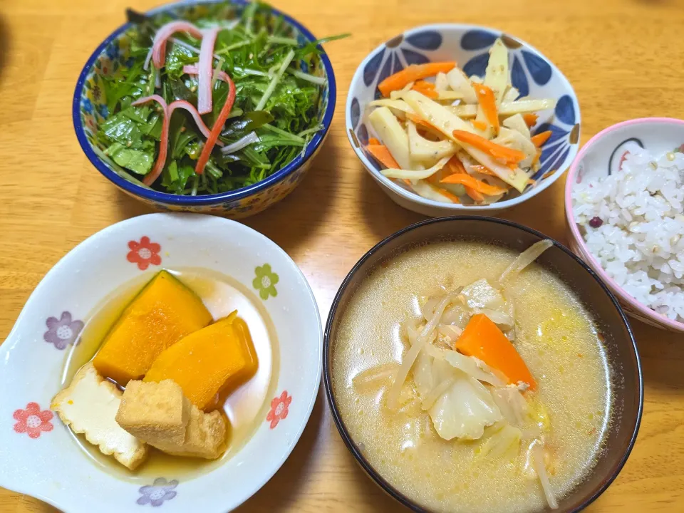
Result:
<svg viewBox="0 0 684 513">
<path fill-rule="evenodd" d="M 147 11 L 145 14 L 160 14 L 164 11 L 175 9 L 181 6 L 188 6 L 192 4 L 216 4 L 219 1 L 225 0 L 179 1 L 173 4 L 167 4 L 157 7 L 150 11 Z M 247 4 L 246 0 L 230 0 L 230 2 L 237 6 L 244 6 Z M 306 39 L 308 39 L 309 41 L 316 41 L 316 37 L 314 36 L 314 34 L 312 34 L 308 28 L 300 24 L 294 18 L 291 18 L 291 16 L 284 14 L 278 9 L 271 8 L 271 10 L 276 16 L 282 16 L 284 21 L 294 26 L 299 31 L 299 33 L 301 33 L 301 35 L 304 36 Z M 135 183 L 130 182 L 130 180 L 126 180 L 125 178 L 120 177 L 116 172 L 111 170 L 110 167 L 106 165 L 100 159 L 100 157 L 98 157 L 98 155 L 93 151 L 93 148 L 90 147 L 90 143 L 86 138 L 86 132 L 85 130 L 83 130 L 83 123 L 81 123 L 81 95 L 83 93 L 84 84 L 86 83 L 86 76 L 88 76 L 88 73 L 90 73 L 91 68 L 93 68 L 93 64 L 98 59 L 100 54 L 105 50 L 105 48 L 107 48 L 109 43 L 111 43 L 121 33 L 131 28 L 131 26 L 133 26 L 133 24 L 123 24 L 115 31 L 113 31 L 113 33 L 111 33 L 102 43 L 100 43 L 100 45 L 97 48 L 95 48 L 95 51 L 92 53 L 92 55 L 90 55 L 88 61 L 86 61 L 86 65 L 83 66 L 81 74 L 78 76 L 78 81 L 76 81 L 76 89 L 73 93 L 73 103 L 71 108 L 71 117 L 73 118 L 73 128 L 74 130 L 76 130 L 76 138 L 78 139 L 78 143 L 81 145 L 81 149 L 83 149 L 83 152 L 86 153 L 86 157 L 88 157 L 90 163 L 93 164 L 100 173 L 102 173 L 106 178 L 108 178 L 110 182 L 113 182 L 115 185 L 125 190 L 126 192 L 130 192 L 130 194 L 140 196 L 145 199 L 150 199 L 153 202 L 182 206 L 199 206 L 236 201 L 239 199 L 243 199 L 245 197 L 252 196 L 257 192 L 266 190 L 269 187 L 271 187 L 271 185 L 274 185 L 277 182 L 284 180 L 285 177 L 290 175 L 295 170 L 299 169 L 301 165 L 304 165 L 304 163 L 314 155 L 316 150 L 318 150 L 318 147 L 323 142 L 323 139 L 325 139 L 328 130 L 330 129 L 331 122 L 333 120 L 333 113 L 335 112 L 337 88 L 335 83 L 335 74 L 333 72 L 333 65 L 330 61 L 330 58 L 328 58 L 328 54 L 325 51 L 323 51 L 323 48 L 321 48 L 321 46 L 318 46 L 318 48 L 321 51 L 323 51 L 320 57 L 321 62 L 323 63 L 323 67 L 326 70 L 326 78 L 328 80 L 328 105 L 326 106 L 326 110 L 323 113 L 323 119 L 321 120 L 321 123 L 323 123 L 323 129 L 319 130 L 316 133 L 316 135 L 314 135 L 314 137 L 311 138 L 311 142 L 309 142 L 309 145 L 307 145 L 306 147 L 306 152 L 304 152 L 304 157 L 302 157 L 301 154 L 297 155 L 297 157 L 295 157 L 295 159 L 292 160 L 288 165 L 274 172 L 273 175 L 264 178 L 264 180 L 261 180 L 261 182 L 257 182 L 247 187 L 242 187 L 242 189 L 237 189 L 229 192 L 221 192 L 215 195 L 172 195 L 168 194 L 167 192 L 159 192 L 156 190 L 152 190 L 151 188 L 141 187 L 140 185 L 136 185 Z"/>
</svg>

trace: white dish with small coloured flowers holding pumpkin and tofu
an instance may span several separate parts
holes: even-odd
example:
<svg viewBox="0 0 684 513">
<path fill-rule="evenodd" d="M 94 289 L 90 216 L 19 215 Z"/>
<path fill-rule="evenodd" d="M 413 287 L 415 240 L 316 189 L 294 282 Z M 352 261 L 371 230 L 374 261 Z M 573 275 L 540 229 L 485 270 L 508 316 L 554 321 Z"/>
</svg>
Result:
<svg viewBox="0 0 684 513">
<path fill-rule="evenodd" d="M 270 318 L 277 339 L 270 385 L 255 407 L 252 437 L 212 470 L 114 472 L 79 447 L 50 403 L 61 388 L 68 349 L 81 341 L 95 307 L 123 284 L 142 284 L 164 267 L 230 276 L 254 309 Z M 321 380 L 322 343 L 306 279 L 282 249 L 253 229 L 199 214 L 147 214 L 114 224 L 48 272 L 0 346 L 0 487 L 64 512 L 233 509 L 274 475 L 299 440 Z"/>
</svg>

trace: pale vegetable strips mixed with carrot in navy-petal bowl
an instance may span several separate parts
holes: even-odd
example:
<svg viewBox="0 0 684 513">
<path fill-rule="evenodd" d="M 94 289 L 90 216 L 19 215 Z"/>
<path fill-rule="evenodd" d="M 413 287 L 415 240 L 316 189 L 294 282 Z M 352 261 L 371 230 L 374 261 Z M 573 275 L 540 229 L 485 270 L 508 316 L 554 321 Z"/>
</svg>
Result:
<svg viewBox="0 0 684 513">
<path fill-rule="evenodd" d="M 518 98 L 501 39 L 484 79 L 455 62 L 411 65 L 378 85 L 366 150 L 410 190 L 444 203 L 490 204 L 534 185 L 550 131 L 532 135 L 556 100 Z"/>
</svg>

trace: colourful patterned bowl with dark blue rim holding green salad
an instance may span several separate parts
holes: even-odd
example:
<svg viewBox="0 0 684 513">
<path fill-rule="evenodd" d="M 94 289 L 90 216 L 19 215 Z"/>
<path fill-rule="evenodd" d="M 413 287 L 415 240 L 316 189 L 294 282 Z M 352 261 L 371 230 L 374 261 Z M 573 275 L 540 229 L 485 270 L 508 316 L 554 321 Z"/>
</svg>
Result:
<svg viewBox="0 0 684 513">
<path fill-rule="evenodd" d="M 177 4 L 152 9 L 147 15 L 154 16 L 155 14 L 170 13 L 185 19 L 197 19 L 203 15 L 206 4 L 213 1 L 217 0 L 181 1 Z M 242 9 L 247 3 L 244 0 L 232 0 L 232 2 L 236 5 L 237 9 Z M 283 26 L 288 26 L 291 36 L 297 38 L 301 43 L 316 41 L 314 35 L 299 24 L 298 21 L 290 16 L 281 14 L 275 9 L 273 13 L 274 16 L 283 17 Z M 172 195 L 152 190 L 150 187 L 142 185 L 142 182 L 135 180 L 128 172 L 104 155 L 104 148 L 102 145 L 98 145 L 96 138 L 98 125 L 103 123 L 108 116 L 107 100 L 102 87 L 101 77 L 115 75 L 121 64 L 128 60 L 130 54 L 130 38 L 126 36 L 128 28 L 130 28 L 129 24 L 120 26 L 98 46 L 93 55 L 88 59 L 88 62 L 86 62 L 86 66 L 83 66 L 83 71 L 81 71 L 81 76 L 78 77 L 76 90 L 73 94 L 73 126 L 76 129 L 78 142 L 81 143 L 81 148 L 86 153 L 88 160 L 108 180 L 113 182 L 123 192 L 140 199 L 140 201 L 156 209 L 204 213 L 215 212 L 236 219 L 261 212 L 261 210 L 289 195 L 299 185 L 306 171 L 309 170 L 311 161 L 318 150 L 320 150 L 323 140 L 326 138 L 328 128 L 330 128 L 333 119 L 333 112 L 335 111 L 337 95 L 335 75 L 333 73 L 333 66 L 326 53 L 318 56 L 314 69 L 308 70 L 309 73 L 321 76 L 327 80 L 318 104 L 318 117 L 323 124 L 323 129 L 311 138 L 311 142 L 306 146 L 304 155 L 298 155 L 288 165 L 266 179 L 261 180 L 261 182 L 243 187 L 242 189 L 216 195 Z"/>
</svg>

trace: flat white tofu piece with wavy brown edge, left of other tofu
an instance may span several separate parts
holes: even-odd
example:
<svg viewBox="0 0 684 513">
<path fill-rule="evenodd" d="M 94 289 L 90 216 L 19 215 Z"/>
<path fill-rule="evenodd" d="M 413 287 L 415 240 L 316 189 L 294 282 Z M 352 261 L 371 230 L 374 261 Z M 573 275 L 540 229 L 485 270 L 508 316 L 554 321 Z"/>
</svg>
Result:
<svg viewBox="0 0 684 513">
<path fill-rule="evenodd" d="M 55 395 L 51 409 L 62 422 L 105 455 L 135 470 L 147 457 L 149 447 L 116 423 L 121 391 L 95 370 L 93 362 L 78 370 L 71 385 Z"/>
</svg>

